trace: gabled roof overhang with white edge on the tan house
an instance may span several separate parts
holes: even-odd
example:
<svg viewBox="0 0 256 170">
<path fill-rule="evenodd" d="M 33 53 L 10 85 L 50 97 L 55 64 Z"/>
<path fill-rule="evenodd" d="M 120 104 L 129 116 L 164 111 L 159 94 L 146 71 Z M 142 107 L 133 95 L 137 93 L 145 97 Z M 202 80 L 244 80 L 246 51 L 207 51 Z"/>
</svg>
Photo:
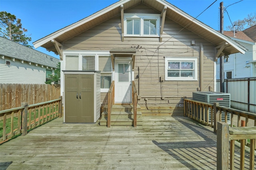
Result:
<svg viewBox="0 0 256 170">
<path fill-rule="evenodd" d="M 40 40 L 37 40 L 33 44 L 36 48 L 42 46 L 48 49 L 49 51 L 56 52 L 57 50 L 54 46 L 54 43 L 51 42 L 52 40 L 59 43 L 64 42 L 80 34 L 81 32 L 84 32 L 120 14 L 121 5 L 123 5 L 125 12 L 125 10 L 137 6 L 138 4 L 145 4 L 160 13 L 163 11 L 164 7 L 167 7 L 166 17 L 177 22 L 178 24 L 194 32 L 195 34 L 198 34 L 199 36 L 208 40 L 209 42 L 212 42 L 215 46 L 219 48 L 224 43 L 224 53 L 244 53 L 246 51 L 246 49 L 238 43 L 234 42 L 227 36 L 224 36 L 220 32 L 215 31 L 214 29 L 210 28 L 209 26 L 200 22 L 199 20 L 196 20 L 192 16 L 178 9 L 176 6 L 170 4 L 169 2 L 166 2 L 166 0 L 120 0 L 115 4 L 112 4 L 104 8 L 103 10 L 100 10 L 99 12 L 96 12 L 74 24 L 66 26 L 65 28 L 62 28 L 61 30 L 58 30 Z"/>
</svg>

